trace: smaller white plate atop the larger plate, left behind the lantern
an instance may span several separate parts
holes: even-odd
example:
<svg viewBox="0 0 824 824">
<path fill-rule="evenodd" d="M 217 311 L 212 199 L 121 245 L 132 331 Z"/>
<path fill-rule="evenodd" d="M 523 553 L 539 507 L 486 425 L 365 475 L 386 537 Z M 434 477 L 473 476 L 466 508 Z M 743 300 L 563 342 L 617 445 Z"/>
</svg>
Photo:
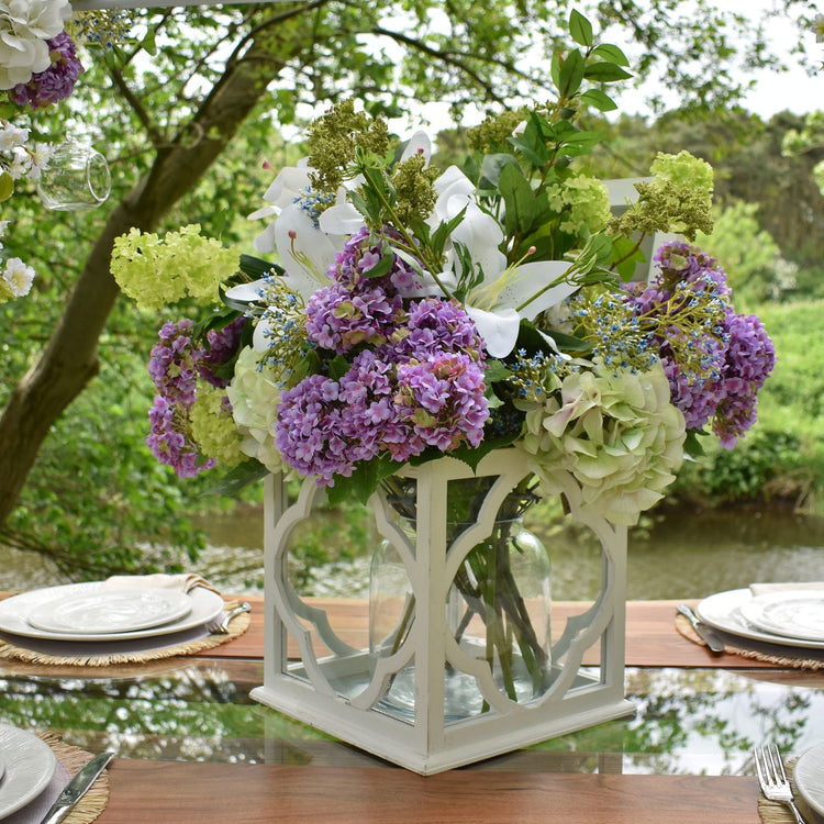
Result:
<svg viewBox="0 0 824 824">
<path fill-rule="evenodd" d="M 186 592 L 130 587 L 55 598 L 32 609 L 26 620 L 37 630 L 64 635 L 105 635 L 160 626 L 189 612 L 191 599 Z"/>
</svg>

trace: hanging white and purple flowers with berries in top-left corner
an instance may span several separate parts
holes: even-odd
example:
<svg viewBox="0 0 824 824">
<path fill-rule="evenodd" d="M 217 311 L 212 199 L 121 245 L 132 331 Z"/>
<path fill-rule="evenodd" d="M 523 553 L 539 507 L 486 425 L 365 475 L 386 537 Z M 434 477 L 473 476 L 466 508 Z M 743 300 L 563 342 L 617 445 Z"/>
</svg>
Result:
<svg viewBox="0 0 824 824">
<path fill-rule="evenodd" d="M 111 47 L 127 27 L 122 11 L 73 20 L 69 0 L 0 0 L 0 89 L 31 109 L 65 100 L 83 71 L 77 46 Z"/>
</svg>

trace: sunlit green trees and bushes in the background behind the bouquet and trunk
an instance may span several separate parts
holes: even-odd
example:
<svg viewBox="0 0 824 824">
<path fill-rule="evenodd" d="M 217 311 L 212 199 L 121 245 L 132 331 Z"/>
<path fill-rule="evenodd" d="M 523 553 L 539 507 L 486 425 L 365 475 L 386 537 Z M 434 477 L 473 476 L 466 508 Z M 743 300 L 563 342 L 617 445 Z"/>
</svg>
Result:
<svg viewBox="0 0 824 824">
<path fill-rule="evenodd" d="M 426 3 L 409 5 L 420 8 L 425 18 Z M 301 125 L 300 100 L 332 100 L 345 89 L 369 101 L 375 112 L 404 110 L 401 96 L 377 93 L 392 88 L 391 60 L 379 59 L 364 47 L 358 35 L 364 13 L 359 5 L 334 21 L 319 22 L 318 43 L 323 43 L 324 26 L 337 26 L 337 53 L 319 51 L 315 62 L 296 75 L 293 90 L 272 89 L 265 107 L 244 125 L 233 151 L 177 205 L 160 231 L 200 223 L 204 234 L 249 247 L 259 226 L 249 224 L 245 215 L 258 208 L 271 180 L 264 162 L 277 169 L 302 154 L 299 145 L 287 142 L 275 127 L 275 123 Z M 190 21 L 203 31 L 214 26 L 213 15 L 192 15 Z M 491 44 L 500 48 L 500 38 L 512 23 L 495 14 L 487 16 L 487 40 L 475 44 L 479 55 L 491 54 Z M 174 21 L 170 35 L 175 34 Z M 546 20 L 542 26 L 552 27 Z M 444 48 L 447 45 L 444 40 Z M 511 45 L 516 54 L 516 44 Z M 192 58 L 200 60 L 205 81 L 214 80 L 220 71 L 212 66 L 214 55 L 208 51 L 207 38 L 202 55 L 194 43 L 187 43 L 187 48 L 191 49 L 189 63 L 170 53 L 162 70 L 154 65 L 145 69 L 130 65 L 125 70 L 130 82 L 136 82 L 140 75 L 145 91 L 140 103 L 146 111 L 174 114 L 151 134 L 156 145 L 174 135 L 189 113 L 186 93 L 175 86 L 176 71 L 182 73 Z M 339 59 L 343 53 L 348 54 L 348 66 Z M 347 71 L 353 67 L 357 69 L 354 80 Z M 454 67 L 438 74 L 419 60 L 405 64 L 402 71 L 403 88 L 428 87 L 433 98 L 452 94 L 456 108 L 463 104 L 455 85 L 449 85 L 459 80 Z M 66 107 L 55 110 L 47 133 L 38 135 L 55 141 L 66 132 L 86 130 L 99 145 L 116 146 L 116 154 L 110 154 L 114 191 L 109 203 L 89 213 L 44 215 L 31 185 L 21 186 L 14 196 L 13 233 L 3 241 L 5 254 L 35 265 L 37 278 L 25 299 L 0 305 L 0 407 L 57 323 L 108 210 L 152 163 L 153 148 L 140 108 L 113 104 L 110 82 L 93 66 L 83 75 L 81 102 L 87 110 L 94 109 L 93 126 L 77 109 Z M 501 93 L 514 90 L 513 82 L 500 86 Z M 464 93 L 477 96 L 477 90 Z M 0 116 L 11 114 L 0 105 Z M 736 452 L 708 449 L 704 458 L 688 465 L 679 478 L 678 499 L 721 504 L 760 497 L 824 512 L 820 438 L 824 341 L 816 333 L 824 302 L 824 199 L 812 176 L 815 164 L 824 159 L 824 148 L 782 156 L 783 135 L 803 127 L 803 119 L 788 112 L 768 122 L 728 107 L 704 111 L 701 116 L 694 111 L 667 112 L 653 122 L 630 116 L 605 120 L 598 113 L 589 116 L 592 127 L 605 133 L 602 148 L 591 160 L 590 170 L 600 177 L 644 176 L 658 151 L 687 148 L 713 165 L 719 229 L 704 238 L 705 245 L 728 267 L 738 309 L 764 319 L 779 354 L 776 372 L 761 394 L 757 427 Z M 459 133 L 445 133 L 441 143 L 443 159 L 436 162 L 442 167 L 460 159 Z M 159 316 L 142 314 L 131 302 L 120 301 L 101 339 L 100 375 L 53 427 L 0 539 L 48 555 L 74 578 L 96 578 L 114 570 L 174 570 L 202 548 L 204 536 L 192 525 L 192 516 L 230 509 L 235 501 L 209 494 L 208 477 L 178 479 L 155 461 L 145 445 L 152 402 L 145 369 L 148 354 L 157 329 L 186 314 L 193 315 L 194 308 L 183 304 Z M 248 489 L 243 500 L 259 497 L 258 486 Z M 345 523 L 353 544 L 357 543 L 363 528 L 357 516 L 347 515 Z M 318 542 L 308 545 L 307 567 L 318 560 L 319 547 Z"/>
</svg>

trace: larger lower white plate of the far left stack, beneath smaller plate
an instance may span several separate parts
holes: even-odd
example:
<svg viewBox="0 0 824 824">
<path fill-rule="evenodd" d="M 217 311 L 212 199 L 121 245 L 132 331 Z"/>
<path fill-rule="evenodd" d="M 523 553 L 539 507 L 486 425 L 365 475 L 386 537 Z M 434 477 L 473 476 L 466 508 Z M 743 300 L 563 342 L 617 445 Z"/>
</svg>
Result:
<svg viewBox="0 0 824 824">
<path fill-rule="evenodd" d="M 171 633 L 192 630 L 196 626 L 213 621 L 223 610 L 223 599 L 211 590 L 196 587 L 188 593 L 191 601 L 191 611 L 177 621 L 170 621 L 162 626 L 152 626 L 147 630 L 136 632 L 114 633 L 55 633 L 48 630 L 38 630 L 29 623 L 31 612 L 42 604 L 54 601 L 56 598 L 70 597 L 98 592 L 102 581 L 89 581 L 87 583 L 66 583 L 60 587 L 45 587 L 30 592 L 22 592 L 0 601 L 0 632 L 22 635 L 27 638 L 46 638 L 49 641 L 125 641 L 132 638 L 149 638 L 155 635 L 169 635 Z M 114 590 L 112 590 L 114 591 Z"/>
</svg>

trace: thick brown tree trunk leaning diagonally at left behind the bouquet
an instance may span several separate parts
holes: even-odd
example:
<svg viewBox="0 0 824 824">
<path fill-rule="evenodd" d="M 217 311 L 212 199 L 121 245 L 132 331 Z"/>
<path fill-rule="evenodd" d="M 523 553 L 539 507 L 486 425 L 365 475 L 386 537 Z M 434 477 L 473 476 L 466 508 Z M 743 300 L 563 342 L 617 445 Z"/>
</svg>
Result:
<svg viewBox="0 0 824 824">
<path fill-rule="evenodd" d="M 289 49 L 281 43 L 278 51 L 275 40 L 253 43 L 227 67 L 190 129 L 158 151 L 152 170 L 111 213 L 40 361 L 0 416 L 0 525 L 14 509 L 52 425 L 99 370 L 98 339 L 120 291 L 109 270 L 114 238 L 133 226 L 155 229 L 220 156 L 283 66 Z M 192 133 L 200 135 L 193 145 Z"/>
</svg>

